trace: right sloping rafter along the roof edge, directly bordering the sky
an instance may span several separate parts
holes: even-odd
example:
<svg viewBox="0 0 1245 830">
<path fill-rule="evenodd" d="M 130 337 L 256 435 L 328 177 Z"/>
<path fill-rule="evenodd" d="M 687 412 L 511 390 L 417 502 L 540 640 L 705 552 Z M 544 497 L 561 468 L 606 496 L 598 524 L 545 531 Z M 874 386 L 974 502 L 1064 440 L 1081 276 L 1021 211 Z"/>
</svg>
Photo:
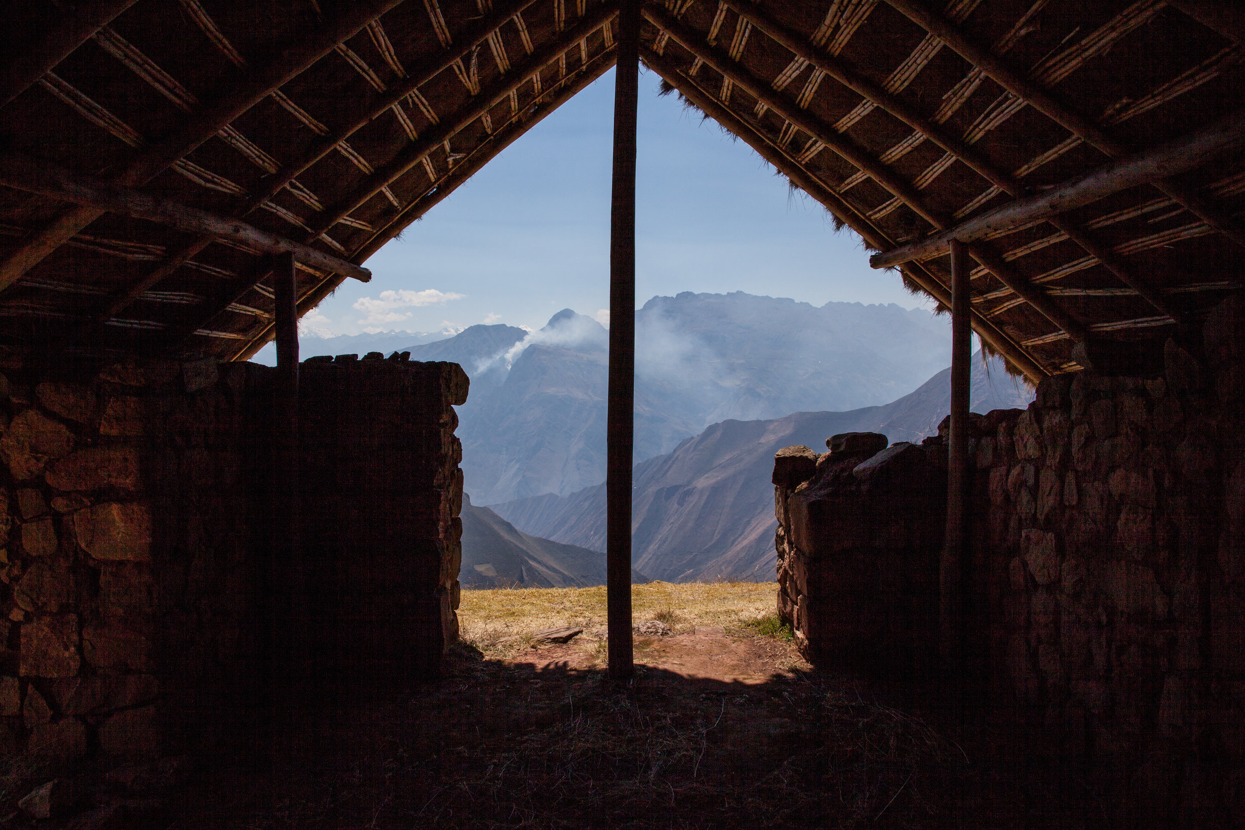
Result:
<svg viewBox="0 0 1245 830">
<path fill-rule="evenodd" d="M 798 161 L 787 154 L 784 148 L 771 142 L 753 126 L 723 107 L 711 93 L 702 90 L 693 78 L 688 78 L 681 73 L 672 61 L 646 46 L 640 47 L 640 55 L 645 63 L 674 85 L 697 108 L 742 138 L 761 158 L 773 164 L 778 172 L 817 199 L 827 210 L 842 219 L 867 244 L 879 250 L 894 248 L 894 243 L 884 231 L 873 225 L 868 217 L 858 213 L 828 185 L 806 170 Z M 916 263 L 905 263 L 901 268 L 904 274 L 916 282 L 923 291 L 950 307 L 950 291 L 933 274 Z M 982 316 L 976 310 L 972 311 L 972 327 L 991 348 L 1003 355 L 1031 382 L 1038 383 L 1050 375 L 1037 358 L 996 326 L 992 320 Z"/>
</svg>

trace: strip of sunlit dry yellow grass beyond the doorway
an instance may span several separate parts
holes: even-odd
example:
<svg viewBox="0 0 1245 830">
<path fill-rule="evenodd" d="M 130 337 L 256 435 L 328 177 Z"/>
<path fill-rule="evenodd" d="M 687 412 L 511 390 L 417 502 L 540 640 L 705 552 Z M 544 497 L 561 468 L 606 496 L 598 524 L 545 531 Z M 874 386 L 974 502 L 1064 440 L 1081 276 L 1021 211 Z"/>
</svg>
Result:
<svg viewBox="0 0 1245 830">
<path fill-rule="evenodd" d="M 649 582 L 631 587 L 636 622 L 660 620 L 676 633 L 696 626 L 741 628 L 773 613 L 774 582 Z M 544 628 L 579 626 L 585 640 L 605 626 L 605 587 L 463 591 L 462 638 L 488 656 L 530 645 Z"/>
</svg>

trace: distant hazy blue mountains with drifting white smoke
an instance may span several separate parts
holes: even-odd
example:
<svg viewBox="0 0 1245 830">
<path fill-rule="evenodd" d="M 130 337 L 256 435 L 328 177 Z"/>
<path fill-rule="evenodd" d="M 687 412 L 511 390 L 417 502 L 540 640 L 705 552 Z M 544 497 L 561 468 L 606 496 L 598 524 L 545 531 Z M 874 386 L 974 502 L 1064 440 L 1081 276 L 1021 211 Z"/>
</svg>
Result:
<svg viewBox="0 0 1245 830">
<path fill-rule="evenodd" d="M 604 482 L 609 356 L 599 322 L 566 309 L 539 331 L 479 325 L 408 351 L 471 377 L 458 436 L 477 504 Z M 726 419 L 883 404 L 949 362 L 946 319 L 920 309 L 657 296 L 636 312 L 635 460 Z"/>
</svg>

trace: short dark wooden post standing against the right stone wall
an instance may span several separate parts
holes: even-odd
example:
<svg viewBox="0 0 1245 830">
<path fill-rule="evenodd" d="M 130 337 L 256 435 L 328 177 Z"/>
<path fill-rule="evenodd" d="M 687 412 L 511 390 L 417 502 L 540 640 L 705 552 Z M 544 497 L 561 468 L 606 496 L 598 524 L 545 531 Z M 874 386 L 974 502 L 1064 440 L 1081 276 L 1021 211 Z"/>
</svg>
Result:
<svg viewBox="0 0 1245 830">
<path fill-rule="evenodd" d="M 951 434 L 947 447 L 946 536 L 939 562 L 939 646 L 949 691 L 961 671 L 961 567 L 969 535 L 969 361 L 972 350 L 969 246 L 951 243 Z"/>
</svg>

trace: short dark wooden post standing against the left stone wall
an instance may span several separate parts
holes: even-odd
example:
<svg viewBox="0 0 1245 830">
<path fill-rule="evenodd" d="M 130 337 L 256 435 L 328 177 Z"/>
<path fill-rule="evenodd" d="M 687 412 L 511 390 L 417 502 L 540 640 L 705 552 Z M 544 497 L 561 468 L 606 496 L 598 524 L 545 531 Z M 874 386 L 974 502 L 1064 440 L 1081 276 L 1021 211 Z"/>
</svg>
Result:
<svg viewBox="0 0 1245 830">
<path fill-rule="evenodd" d="M 293 254 L 273 258 L 276 299 L 276 383 L 273 396 L 273 703 L 281 719 L 298 703 L 306 672 L 303 546 L 299 521 L 299 319 Z"/>
</svg>

